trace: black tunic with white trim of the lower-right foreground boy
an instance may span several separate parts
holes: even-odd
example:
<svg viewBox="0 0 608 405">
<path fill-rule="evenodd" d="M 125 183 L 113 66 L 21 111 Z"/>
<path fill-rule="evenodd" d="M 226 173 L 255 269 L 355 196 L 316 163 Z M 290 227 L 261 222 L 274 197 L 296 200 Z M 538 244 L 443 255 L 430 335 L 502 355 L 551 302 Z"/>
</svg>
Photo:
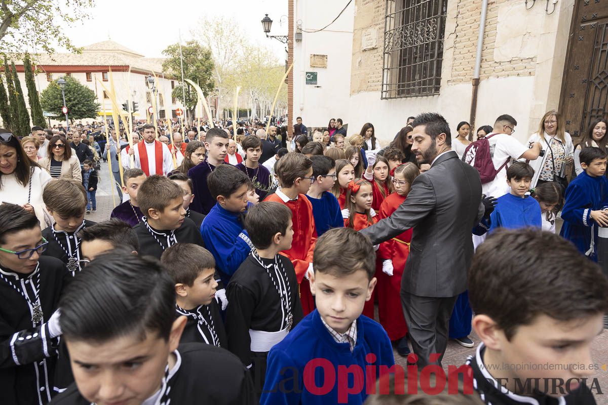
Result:
<svg viewBox="0 0 608 405">
<path fill-rule="evenodd" d="M 481 343 L 475 356 L 469 356 L 465 364 L 473 371 L 473 388 L 483 402 L 488 405 L 595 405 L 593 393 L 585 384 L 565 396 L 549 396 L 541 392 L 534 395 L 517 395 L 500 386 L 498 381 L 486 370 L 483 364 L 485 345 Z M 542 380 L 542 379 L 541 379 Z M 522 381 L 525 385 L 526 381 Z M 540 384 L 544 385 L 541 381 Z"/>
</svg>

